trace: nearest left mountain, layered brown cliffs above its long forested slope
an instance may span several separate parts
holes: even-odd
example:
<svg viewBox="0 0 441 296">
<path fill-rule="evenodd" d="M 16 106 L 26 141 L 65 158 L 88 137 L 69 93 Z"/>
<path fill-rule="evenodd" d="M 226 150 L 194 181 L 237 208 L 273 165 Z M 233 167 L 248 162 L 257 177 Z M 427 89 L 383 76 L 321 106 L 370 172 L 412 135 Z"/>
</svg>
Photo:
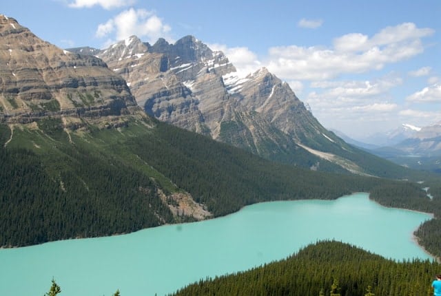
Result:
<svg viewBox="0 0 441 296">
<path fill-rule="evenodd" d="M 353 191 L 387 196 L 381 202 L 437 218 L 441 212 L 441 197 L 433 194 L 431 202 L 424 185 L 316 172 L 309 163 L 300 169 L 286 161 L 294 146 L 278 159 L 284 165 L 160 123 L 103 61 L 65 52 L 1 15 L 0 39 L 0 246 L 126 233 L 225 215 L 254 202 Z M 322 136 L 302 141 L 307 149 L 342 149 L 338 138 L 319 131 Z M 331 154 L 320 157 L 352 165 Z M 410 171 L 378 170 L 379 176 L 416 180 Z M 433 233 L 424 233 L 424 242 L 433 244 Z"/>
</svg>

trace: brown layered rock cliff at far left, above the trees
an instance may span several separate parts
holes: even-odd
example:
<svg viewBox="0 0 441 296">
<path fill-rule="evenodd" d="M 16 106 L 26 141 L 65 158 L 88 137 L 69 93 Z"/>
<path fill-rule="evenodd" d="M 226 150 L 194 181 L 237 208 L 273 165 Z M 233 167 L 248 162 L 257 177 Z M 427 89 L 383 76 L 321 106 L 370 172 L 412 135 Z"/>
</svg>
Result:
<svg viewBox="0 0 441 296">
<path fill-rule="evenodd" d="M 121 76 L 94 56 L 51 45 L 0 15 L 0 120 L 97 118 L 129 112 L 136 101 Z"/>
</svg>

